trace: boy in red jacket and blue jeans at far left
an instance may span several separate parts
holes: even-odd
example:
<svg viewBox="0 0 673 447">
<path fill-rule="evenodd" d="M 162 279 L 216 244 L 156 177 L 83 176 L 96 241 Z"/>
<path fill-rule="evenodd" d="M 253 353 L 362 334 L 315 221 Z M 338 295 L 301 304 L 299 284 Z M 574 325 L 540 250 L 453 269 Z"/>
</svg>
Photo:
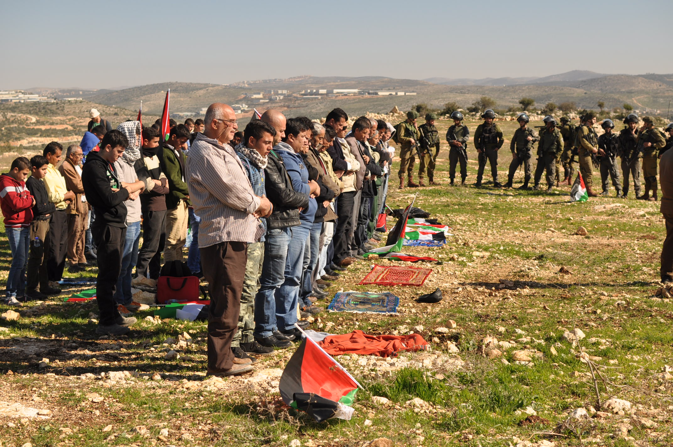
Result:
<svg viewBox="0 0 673 447">
<path fill-rule="evenodd" d="M 19 157 L 11 162 L 9 172 L 0 176 L 0 209 L 5 218 L 5 232 L 11 250 L 5 303 L 12 306 L 19 304 L 17 298 L 23 298 L 26 289 L 29 226 L 33 219 L 32 207 L 35 205 L 35 199 L 26 188 L 29 173 L 30 161 L 26 157 Z"/>
</svg>

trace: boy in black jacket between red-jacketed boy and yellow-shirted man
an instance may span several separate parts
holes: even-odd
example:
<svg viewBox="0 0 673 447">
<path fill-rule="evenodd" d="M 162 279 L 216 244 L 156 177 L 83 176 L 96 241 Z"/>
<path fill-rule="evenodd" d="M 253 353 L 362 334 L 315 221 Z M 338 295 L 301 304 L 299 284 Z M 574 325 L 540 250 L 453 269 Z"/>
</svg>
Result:
<svg viewBox="0 0 673 447">
<path fill-rule="evenodd" d="M 101 127 L 101 126 L 98 126 Z M 42 179 L 46 176 L 49 161 L 43 156 L 30 159 L 31 175 L 26 180 L 26 187 L 35 199 L 33 205 L 33 221 L 30 223 L 30 254 L 26 272 L 26 298 L 28 300 L 45 300 L 48 295 L 60 292 L 56 287 L 49 286 L 46 273 L 44 252 L 48 244 L 49 219 L 56 211 L 56 205 L 49 201 L 46 187 Z"/>
</svg>

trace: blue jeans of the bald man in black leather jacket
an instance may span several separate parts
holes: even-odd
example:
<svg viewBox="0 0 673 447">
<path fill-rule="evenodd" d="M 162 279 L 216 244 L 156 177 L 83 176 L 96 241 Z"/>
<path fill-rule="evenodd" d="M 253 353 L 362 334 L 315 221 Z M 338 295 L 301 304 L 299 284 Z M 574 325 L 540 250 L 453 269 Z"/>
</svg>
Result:
<svg viewBox="0 0 673 447">
<path fill-rule="evenodd" d="M 285 281 L 285 261 L 291 237 L 289 227 L 267 231 L 260 287 L 254 297 L 254 337 L 269 337 L 277 329 L 275 293 Z"/>
</svg>

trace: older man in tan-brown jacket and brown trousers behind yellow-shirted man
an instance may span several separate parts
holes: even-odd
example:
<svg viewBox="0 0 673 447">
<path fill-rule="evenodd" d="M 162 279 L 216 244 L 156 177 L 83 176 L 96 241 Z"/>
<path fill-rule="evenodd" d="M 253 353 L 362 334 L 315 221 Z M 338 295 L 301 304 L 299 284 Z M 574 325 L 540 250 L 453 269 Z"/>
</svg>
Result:
<svg viewBox="0 0 673 447">
<path fill-rule="evenodd" d="M 87 263 L 84 255 L 89 204 L 86 203 L 84 186 L 82 186 L 82 157 L 82 148 L 76 144 L 71 144 L 65 152 L 65 162 L 59 167 L 59 172 L 65 178 L 65 187 L 68 191 L 72 191 L 75 194 L 75 198 L 66 208 L 68 215 L 66 253 L 69 263 L 68 271 L 71 272 L 78 272 L 86 267 L 91 267 L 91 264 Z"/>
</svg>

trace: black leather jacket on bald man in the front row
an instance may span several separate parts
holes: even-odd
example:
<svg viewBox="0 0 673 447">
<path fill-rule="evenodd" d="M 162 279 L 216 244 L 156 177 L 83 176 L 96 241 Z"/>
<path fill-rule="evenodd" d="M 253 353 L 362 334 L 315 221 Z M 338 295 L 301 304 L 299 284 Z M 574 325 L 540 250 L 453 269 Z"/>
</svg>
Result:
<svg viewBox="0 0 673 447">
<path fill-rule="evenodd" d="M 273 203 L 273 213 L 267 217 L 267 228 L 301 225 L 298 208 L 308 208 L 308 197 L 294 190 L 283 160 L 274 151 L 269 153 L 268 160 L 264 169 L 264 186 L 267 199 Z"/>
</svg>

